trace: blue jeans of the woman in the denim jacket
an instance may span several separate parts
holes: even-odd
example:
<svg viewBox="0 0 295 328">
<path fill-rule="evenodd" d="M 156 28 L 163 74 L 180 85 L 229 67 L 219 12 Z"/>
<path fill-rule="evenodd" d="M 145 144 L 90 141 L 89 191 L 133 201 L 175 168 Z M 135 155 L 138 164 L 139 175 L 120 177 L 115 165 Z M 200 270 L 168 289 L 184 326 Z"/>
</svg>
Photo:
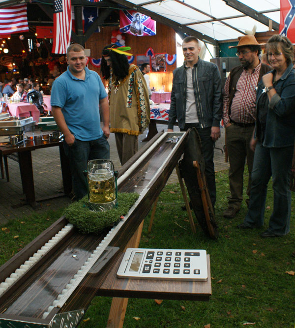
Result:
<svg viewBox="0 0 295 328">
<path fill-rule="evenodd" d="M 267 183 L 272 176 L 273 212 L 269 219 L 269 231 L 277 236 L 290 231 L 291 191 L 290 173 L 293 146 L 266 148 L 257 143 L 252 170 L 251 195 L 244 224 L 262 227 L 266 206 Z"/>
</svg>

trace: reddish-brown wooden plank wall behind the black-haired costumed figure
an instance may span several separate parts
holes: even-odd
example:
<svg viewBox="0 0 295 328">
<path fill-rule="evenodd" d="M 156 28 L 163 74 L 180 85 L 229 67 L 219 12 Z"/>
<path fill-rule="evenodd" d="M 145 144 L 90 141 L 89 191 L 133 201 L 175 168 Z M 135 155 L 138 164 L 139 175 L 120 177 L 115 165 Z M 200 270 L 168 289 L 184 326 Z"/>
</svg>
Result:
<svg viewBox="0 0 295 328">
<path fill-rule="evenodd" d="M 90 49 L 90 57 L 101 58 L 102 49 L 111 43 L 112 31 L 118 30 L 116 27 L 104 27 L 100 33 L 93 33 L 86 42 L 86 48 Z M 131 47 L 130 53 L 135 56 L 133 64 L 136 64 L 136 55 L 144 55 L 148 48 L 152 48 L 154 53 L 165 53 L 169 55 L 176 54 L 175 31 L 163 24 L 157 23 L 157 34 L 154 36 L 134 36 L 124 34 L 126 46 Z M 171 91 L 173 70 L 176 68 L 176 62 L 173 65 L 166 65 L 167 72 L 149 73 L 150 88 L 156 90 L 165 87 L 165 91 Z M 95 70 L 100 74 L 100 67 L 94 67 L 89 63 L 89 69 Z M 102 78 L 102 76 L 101 76 Z M 104 79 L 102 81 L 105 83 Z"/>
</svg>

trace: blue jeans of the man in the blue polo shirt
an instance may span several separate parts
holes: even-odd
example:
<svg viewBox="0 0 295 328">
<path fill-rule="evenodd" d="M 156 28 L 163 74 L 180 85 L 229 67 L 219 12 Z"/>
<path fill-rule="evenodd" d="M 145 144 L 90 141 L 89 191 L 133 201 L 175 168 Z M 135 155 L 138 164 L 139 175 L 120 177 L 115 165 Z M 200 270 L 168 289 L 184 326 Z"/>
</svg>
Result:
<svg viewBox="0 0 295 328">
<path fill-rule="evenodd" d="M 103 135 L 101 138 L 90 141 L 75 139 L 73 146 L 63 142 L 63 148 L 70 162 L 73 191 L 75 200 L 79 200 L 88 191 L 87 178 L 84 171 L 87 170 L 87 161 L 91 159 L 110 159 L 110 145 Z"/>
</svg>

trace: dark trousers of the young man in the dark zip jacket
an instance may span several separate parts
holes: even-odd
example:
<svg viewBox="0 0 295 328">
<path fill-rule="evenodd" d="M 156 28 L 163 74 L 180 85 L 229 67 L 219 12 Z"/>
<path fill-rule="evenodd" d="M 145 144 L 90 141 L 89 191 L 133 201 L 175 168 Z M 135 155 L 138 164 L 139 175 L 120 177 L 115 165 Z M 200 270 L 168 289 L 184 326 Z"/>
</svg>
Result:
<svg viewBox="0 0 295 328">
<path fill-rule="evenodd" d="M 184 128 L 180 129 L 180 131 L 187 131 L 192 127 L 195 127 L 197 129 L 201 139 L 202 151 L 205 160 L 205 175 L 207 179 L 207 186 L 208 186 L 208 191 L 211 198 L 212 206 L 214 206 L 216 201 L 216 185 L 215 185 L 215 171 L 214 171 L 214 162 L 213 162 L 214 142 L 210 137 L 211 126 L 201 129 L 199 123 L 186 123 L 184 125 Z"/>
</svg>

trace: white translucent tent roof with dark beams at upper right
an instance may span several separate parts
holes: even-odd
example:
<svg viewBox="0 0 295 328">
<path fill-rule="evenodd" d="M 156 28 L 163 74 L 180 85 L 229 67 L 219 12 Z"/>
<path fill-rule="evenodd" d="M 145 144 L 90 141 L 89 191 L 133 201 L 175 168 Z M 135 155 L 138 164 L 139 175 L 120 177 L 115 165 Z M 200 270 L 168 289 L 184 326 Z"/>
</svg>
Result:
<svg viewBox="0 0 295 328">
<path fill-rule="evenodd" d="M 252 30 L 278 30 L 280 0 L 114 0 L 149 14 L 156 21 L 174 22 L 175 29 L 216 43 Z M 167 19 L 165 21 L 165 19 Z M 202 37 L 203 36 L 203 37 Z"/>
</svg>

